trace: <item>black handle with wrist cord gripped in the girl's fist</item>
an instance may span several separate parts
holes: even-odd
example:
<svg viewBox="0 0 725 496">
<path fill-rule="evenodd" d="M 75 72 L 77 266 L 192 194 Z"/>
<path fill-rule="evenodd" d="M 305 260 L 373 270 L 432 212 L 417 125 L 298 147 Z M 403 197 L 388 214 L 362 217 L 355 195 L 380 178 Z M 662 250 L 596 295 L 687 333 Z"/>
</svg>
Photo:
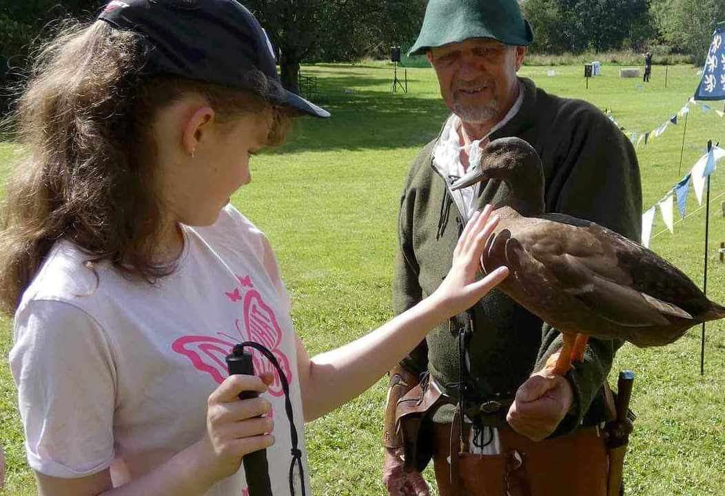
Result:
<svg viewBox="0 0 725 496">
<path fill-rule="evenodd" d="M 252 353 L 244 351 L 244 346 L 236 345 L 231 355 L 226 357 L 229 375 L 254 375 L 254 364 Z M 240 400 L 257 398 L 256 391 L 242 391 L 239 393 Z M 273 496 L 272 484 L 270 482 L 270 470 L 267 463 L 267 450 L 254 451 L 241 458 L 244 463 L 244 476 L 247 478 L 247 489 L 249 496 Z"/>
</svg>

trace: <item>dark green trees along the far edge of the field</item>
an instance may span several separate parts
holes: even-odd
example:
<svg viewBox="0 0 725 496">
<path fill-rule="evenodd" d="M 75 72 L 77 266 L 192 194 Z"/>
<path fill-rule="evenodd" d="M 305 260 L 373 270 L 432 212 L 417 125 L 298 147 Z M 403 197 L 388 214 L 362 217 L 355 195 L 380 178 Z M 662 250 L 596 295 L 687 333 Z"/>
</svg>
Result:
<svg viewBox="0 0 725 496">
<path fill-rule="evenodd" d="M 3 0 L 0 4 L 0 109 L 22 82 L 30 53 L 64 19 L 93 20 L 107 0 Z M 286 88 L 302 62 L 387 57 L 415 41 L 426 0 L 241 0 L 278 51 Z M 534 26 L 534 53 L 631 49 L 691 54 L 700 63 L 725 0 L 520 0 Z"/>
</svg>

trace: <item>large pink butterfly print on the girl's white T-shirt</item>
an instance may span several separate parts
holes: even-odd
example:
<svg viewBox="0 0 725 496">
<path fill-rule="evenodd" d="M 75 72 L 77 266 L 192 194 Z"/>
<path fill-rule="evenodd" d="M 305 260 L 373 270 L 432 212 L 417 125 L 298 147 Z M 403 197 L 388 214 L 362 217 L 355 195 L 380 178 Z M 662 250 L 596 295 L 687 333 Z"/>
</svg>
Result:
<svg viewBox="0 0 725 496">
<path fill-rule="evenodd" d="M 247 328 L 247 337 L 244 336 L 244 332 L 239 327 L 239 320 L 237 320 L 235 325 L 239 332 L 238 337 L 223 333 L 219 333 L 219 335 L 225 339 L 210 336 L 183 336 L 175 340 L 171 348 L 176 353 L 186 356 L 197 370 L 207 372 L 217 384 L 221 384 L 229 375 L 225 357 L 231 353 L 236 342 L 247 340 L 259 342 L 273 353 L 287 381 L 291 382 L 292 371 L 289 358 L 278 348 L 282 342 L 282 330 L 272 308 L 264 303 L 257 290 L 249 290 L 244 295 L 244 324 Z M 254 363 L 256 374 L 271 372 L 274 375 L 274 382 L 268 389 L 270 395 L 276 397 L 283 395 L 282 382 L 272 363 L 257 350 L 252 350 L 252 363 Z"/>
</svg>

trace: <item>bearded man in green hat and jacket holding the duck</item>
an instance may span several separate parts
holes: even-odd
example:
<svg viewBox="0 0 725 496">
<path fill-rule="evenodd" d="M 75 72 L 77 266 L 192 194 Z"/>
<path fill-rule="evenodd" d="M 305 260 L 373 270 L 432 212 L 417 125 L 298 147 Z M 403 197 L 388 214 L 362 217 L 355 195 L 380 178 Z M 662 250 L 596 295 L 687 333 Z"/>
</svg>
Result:
<svg viewBox="0 0 725 496">
<path fill-rule="evenodd" d="M 418 154 L 402 193 L 396 312 L 435 290 L 467 219 L 505 191 L 497 181 L 450 189 L 489 140 L 518 136 L 536 148 L 547 211 L 639 238 L 642 192 L 631 143 L 595 106 L 517 76 L 531 41 L 516 0 L 428 3 L 410 53 L 427 54 L 452 114 Z M 619 345 L 589 340 L 583 362 L 565 377 L 552 375 L 545 363 L 560 350 L 560 334 L 494 290 L 391 371 L 389 494 L 428 495 L 419 472 L 432 455 L 442 496 L 607 495 L 599 427 L 610 413 L 603 384 Z M 399 430 L 397 404 L 405 413 Z"/>
</svg>

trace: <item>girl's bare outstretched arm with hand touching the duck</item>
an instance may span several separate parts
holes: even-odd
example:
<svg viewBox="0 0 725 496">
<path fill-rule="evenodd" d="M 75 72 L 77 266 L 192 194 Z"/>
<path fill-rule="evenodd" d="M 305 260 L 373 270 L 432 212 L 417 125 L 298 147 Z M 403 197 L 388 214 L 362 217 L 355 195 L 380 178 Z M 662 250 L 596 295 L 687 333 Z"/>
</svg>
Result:
<svg viewBox="0 0 725 496">
<path fill-rule="evenodd" d="M 487 238 L 498 219 L 492 209 L 475 214 L 466 225 L 444 282 L 430 297 L 347 345 L 310 358 L 297 339 L 297 369 L 305 420 L 338 408 L 372 386 L 442 321 L 471 308 L 507 275 L 501 267 L 476 281 Z"/>
</svg>

